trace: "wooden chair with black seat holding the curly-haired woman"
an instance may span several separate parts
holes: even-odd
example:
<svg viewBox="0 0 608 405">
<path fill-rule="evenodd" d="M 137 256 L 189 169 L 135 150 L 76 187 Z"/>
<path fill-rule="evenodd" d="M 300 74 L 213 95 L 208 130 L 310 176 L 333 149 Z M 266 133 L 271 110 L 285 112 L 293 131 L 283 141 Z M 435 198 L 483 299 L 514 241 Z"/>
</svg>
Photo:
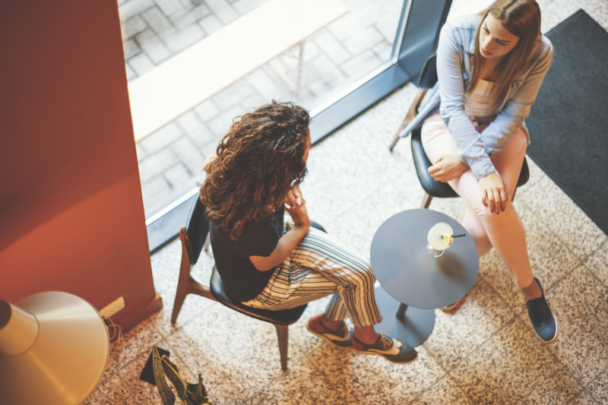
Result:
<svg viewBox="0 0 608 405">
<path fill-rule="evenodd" d="M 318 224 L 313 223 L 313 226 L 325 231 L 323 227 Z M 190 210 L 186 225 L 182 227 L 179 233 L 179 237 L 182 241 L 182 261 L 179 271 L 177 293 L 175 294 L 175 302 L 173 304 L 173 313 L 171 314 L 171 323 L 176 323 L 179 312 L 188 294 L 196 294 L 201 297 L 218 301 L 237 312 L 264 322 L 272 323 L 277 330 L 281 369 L 287 370 L 289 325 L 300 319 L 304 309 L 306 309 L 306 305 L 282 311 L 270 311 L 247 307 L 232 299 L 226 293 L 222 278 L 215 267 L 213 268 L 209 286 L 199 283 L 192 277 L 191 270 L 192 266 L 196 264 L 200 257 L 208 234 L 209 221 L 205 218 L 205 206 L 200 199 L 197 198 Z"/>
</svg>

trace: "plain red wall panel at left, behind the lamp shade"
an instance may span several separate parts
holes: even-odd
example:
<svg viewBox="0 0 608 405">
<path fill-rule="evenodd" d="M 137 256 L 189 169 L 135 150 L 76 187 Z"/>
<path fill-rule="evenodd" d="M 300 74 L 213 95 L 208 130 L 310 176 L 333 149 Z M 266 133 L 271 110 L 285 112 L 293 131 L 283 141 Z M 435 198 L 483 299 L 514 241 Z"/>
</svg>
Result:
<svg viewBox="0 0 608 405">
<path fill-rule="evenodd" d="M 49 290 L 158 302 L 113 1 L 0 3 L 0 297 Z"/>
</svg>

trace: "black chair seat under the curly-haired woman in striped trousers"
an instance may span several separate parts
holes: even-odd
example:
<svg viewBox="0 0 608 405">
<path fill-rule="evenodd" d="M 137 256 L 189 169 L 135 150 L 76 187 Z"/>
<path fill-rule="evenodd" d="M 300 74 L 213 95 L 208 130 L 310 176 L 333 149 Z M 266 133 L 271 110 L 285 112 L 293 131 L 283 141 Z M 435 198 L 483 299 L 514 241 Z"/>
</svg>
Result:
<svg viewBox="0 0 608 405">
<path fill-rule="evenodd" d="M 252 318 L 277 325 L 291 325 L 292 323 L 295 323 L 298 319 L 300 319 L 300 316 L 302 316 L 302 313 L 306 309 L 306 305 L 302 305 L 293 309 L 270 311 L 268 309 L 257 309 L 243 305 L 226 294 L 222 278 L 220 277 L 220 273 L 218 273 L 216 267 L 213 267 L 213 274 L 211 275 L 209 289 L 211 290 L 211 294 L 213 294 L 215 299 L 227 307 L 230 307 L 235 311 L 241 312 Z"/>
</svg>

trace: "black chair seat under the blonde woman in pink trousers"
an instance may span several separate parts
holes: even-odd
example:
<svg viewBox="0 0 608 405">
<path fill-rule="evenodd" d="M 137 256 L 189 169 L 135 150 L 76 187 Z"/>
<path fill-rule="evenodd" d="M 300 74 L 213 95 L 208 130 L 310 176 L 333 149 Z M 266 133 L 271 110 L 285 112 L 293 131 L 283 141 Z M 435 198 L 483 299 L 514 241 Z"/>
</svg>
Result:
<svg viewBox="0 0 608 405">
<path fill-rule="evenodd" d="M 412 131 L 412 156 L 414 158 L 414 166 L 416 167 L 416 174 L 418 175 L 418 180 L 420 181 L 420 185 L 424 189 L 424 191 L 430 195 L 431 197 L 438 198 L 452 198 L 458 197 L 458 194 L 454 191 L 452 187 L 448 183 L 441 183 L 439 181 L 433 180 L 431 175 L 429 174 L 429 167 L 432 166 L 431 161 L 426 156 L 424 152 L 424 148 L 422 147 L 422 140 L 420 138 L 421 130 L 420 128 Z M 524 158 L 524 164 L 521 168 L 521 172 L 519 174 L 519 179 L 517 181 L 517 187 L 523 186 L 530 179 L 530 170 L 528 168 L 528 162 Z"/>
</svg>

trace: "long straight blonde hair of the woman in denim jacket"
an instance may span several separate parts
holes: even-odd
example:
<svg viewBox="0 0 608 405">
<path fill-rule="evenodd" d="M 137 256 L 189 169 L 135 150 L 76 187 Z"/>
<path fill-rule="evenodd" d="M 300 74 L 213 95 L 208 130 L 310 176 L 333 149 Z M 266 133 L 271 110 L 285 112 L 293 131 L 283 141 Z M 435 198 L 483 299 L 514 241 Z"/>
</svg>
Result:
<svg viewBox="0 0 608 405">
<path fill-rule="evenodd" d="M 472 73 L 467 91 L 472 91 L 479 80 L 478 63 L 483 60 L 479 50 L 479 36 L 488 14 L 492 14 L 511 34 L 519 37 L 517 45 L 496 67 L 498 77 L 496 88 L 490 96 L 490 104 L 498 108 L 513 80 L 526 68 L 526 62 L 540 35 L 540 7 L 536 0 L 497 0 L 479 13 L 483 18 L 475 35 L 475 58 L 471 63 Z"/>
</svg>

